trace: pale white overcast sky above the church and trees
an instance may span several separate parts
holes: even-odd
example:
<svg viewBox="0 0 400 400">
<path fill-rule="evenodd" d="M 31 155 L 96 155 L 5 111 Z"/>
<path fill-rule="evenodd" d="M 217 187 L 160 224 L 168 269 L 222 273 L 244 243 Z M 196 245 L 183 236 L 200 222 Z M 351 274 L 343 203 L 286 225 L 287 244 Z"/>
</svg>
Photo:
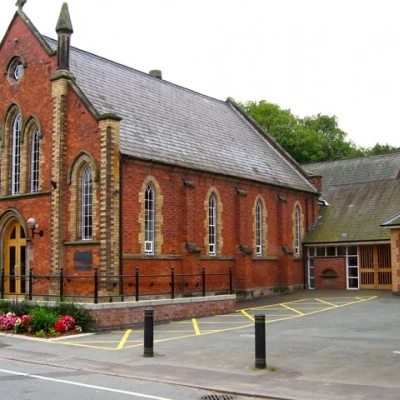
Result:
<svg viewBox="0 0 400 400">
<path fill-rule="evenodd" d="M 24 12 L 56 38 L 63 0 Z M 72 46 L 196 92 L 335 115 L 347 140 L 400 147 L 398 0 L 68 0 Z M 0 0 L 0 37 L 16 11 Z"/>
</svg>

